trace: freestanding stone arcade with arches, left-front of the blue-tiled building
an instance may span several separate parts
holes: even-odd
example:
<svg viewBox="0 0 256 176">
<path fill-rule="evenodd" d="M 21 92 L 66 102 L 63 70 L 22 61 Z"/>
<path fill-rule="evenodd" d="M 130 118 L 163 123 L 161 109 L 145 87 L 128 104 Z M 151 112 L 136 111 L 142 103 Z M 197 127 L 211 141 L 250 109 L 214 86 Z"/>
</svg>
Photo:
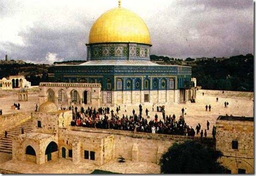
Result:
<svg viewBox="0 0 256 176">
<path fill-rule="evenodd" d="M 39 105 L 51 101 L 58 107 L 87 105 L 98 109 L 101 106 L 99 83 L 40 83 Z"/>
</svg>

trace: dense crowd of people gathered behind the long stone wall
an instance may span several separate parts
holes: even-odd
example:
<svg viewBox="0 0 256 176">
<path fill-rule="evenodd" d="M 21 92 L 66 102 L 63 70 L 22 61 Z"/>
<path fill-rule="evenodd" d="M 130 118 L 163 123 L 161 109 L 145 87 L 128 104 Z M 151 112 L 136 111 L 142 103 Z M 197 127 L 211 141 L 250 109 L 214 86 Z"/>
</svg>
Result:
<svg viewBox="0 0 256 176">
<path fill-rule="evenodd" d="M 154 107 L 152 107 L 154 110 Z M 117 107 L 117 113 L 114 114 L 114 110 L 109 113 L 109 107 L 100 107 L 98 110 L 92 107 L 78 111 L 76 108 L 71 107 L 73 112 L 73 119 L 71 126 L 91 127 L 91 128 L 104 128 L 113 130 L 126 130 L 126 131 L 139 131 L 145 133 L 158 133 L 158 134 L 173 134 L 182 136 L 195 136 L 195 130 L 193 127 L 188 126 L 185 123 L 184 114 L 185 109 L 182 109 L 182 115 L 177 119 L 175 114 L 172 116 L 166 116 L 164 107 L 161 109 L 158 107 L 158 111 L 162 112 L 162 120 L 158 120 L 157 113 L 154 120 L 148 120 L 147 109 L 146 117 L 142 117 L 142 105 L 139 105 L 139 114 L 133 109 L 131 115 L 118 116 L 119 107 Z M 186 111 L 187 113 L 187 111 Z M 100 116 L 99 115 L 104 115 Z M 199 124 L 200 125 L 200 124 Z M 201 126 L 200 126 L 201 128 Z M 200 131 L 199 128 L 199 131 Z M 197 134 L 198 134 L 197 129 Z M 205 134 L 205 137 L 207 135 Z"/>
</svg>

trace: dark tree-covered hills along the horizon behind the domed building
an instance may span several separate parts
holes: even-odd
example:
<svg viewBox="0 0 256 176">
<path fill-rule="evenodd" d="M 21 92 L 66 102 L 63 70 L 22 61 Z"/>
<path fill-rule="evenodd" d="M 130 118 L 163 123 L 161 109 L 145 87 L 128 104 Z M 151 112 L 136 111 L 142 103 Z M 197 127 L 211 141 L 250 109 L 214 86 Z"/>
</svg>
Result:
<svg viewBox="0 0 256 176">
<path fill-rule="evenodd" d="M 238 55 L 225 60 L 195 61 L 188 57 L 185 60 L 167 56 L 150 56 L 152 62 L 161 65 L 185 65 L 192 67 L 192 77 L 197 78 L 197 85 L 202 89 L 254 91 L 254 56 Z M 78 65 L 85 60 L 55 62 L 55 65 Z M 24 65 L 0 65 L 0 79 L 11 75 L 24 75 L 32 86 L 48 81 L 49 65 L 25 63 Z"/>
</svg>

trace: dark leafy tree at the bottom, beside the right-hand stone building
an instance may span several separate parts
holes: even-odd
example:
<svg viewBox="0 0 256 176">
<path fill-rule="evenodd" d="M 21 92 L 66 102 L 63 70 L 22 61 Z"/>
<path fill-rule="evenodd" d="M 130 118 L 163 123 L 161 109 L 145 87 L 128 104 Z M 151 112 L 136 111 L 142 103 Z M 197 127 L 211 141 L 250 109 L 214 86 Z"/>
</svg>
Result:
<svg viewBox="0 0 256 176">
<path fill-rule="evenodd" d="M 160 159 L 163 174 L 221 174 L 227 168 L 217 162 L 221 151 L 195 141 L 174 143 Z"/>
</svg>

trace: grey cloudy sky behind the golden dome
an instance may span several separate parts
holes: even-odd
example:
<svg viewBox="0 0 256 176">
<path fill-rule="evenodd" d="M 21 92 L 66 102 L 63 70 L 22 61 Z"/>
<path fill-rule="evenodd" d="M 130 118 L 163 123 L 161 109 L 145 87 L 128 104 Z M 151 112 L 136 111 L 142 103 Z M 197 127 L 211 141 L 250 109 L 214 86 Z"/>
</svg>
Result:
<svg viewBox="0 0 256 176">
<path fill-rule="evenodd" d="M 0 60 L 86 60 L 94 21 L 118 0 L 1 0 Z M 252 0 L 122 0 L 151 34 L 151 55 L 222 57 L 254 51 Z"/>
</svg>

